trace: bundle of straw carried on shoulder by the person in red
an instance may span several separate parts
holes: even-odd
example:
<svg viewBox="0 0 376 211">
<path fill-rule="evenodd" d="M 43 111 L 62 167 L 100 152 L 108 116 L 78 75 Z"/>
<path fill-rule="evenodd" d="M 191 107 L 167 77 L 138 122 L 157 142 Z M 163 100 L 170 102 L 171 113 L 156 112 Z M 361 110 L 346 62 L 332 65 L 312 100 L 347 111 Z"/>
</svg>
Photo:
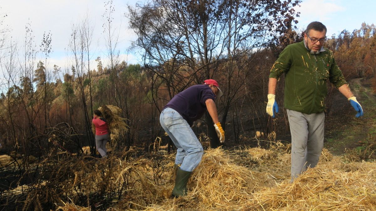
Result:
<svg viewBox="0 0 376 211">
<path fill-rule="evenodd" d="M 103 105 L 98 110 L 102 112 L 102 117 L 106 119 L 110 131 L 110 139 L 119 139 L 121 134 L 128 131 L 128 125 L 124 122 L 126 118 L 121 117 L 122 111 L 114 105 Z M 92 124 L 92 132 L 95 134 L 95 125 Z"/>
</svg>

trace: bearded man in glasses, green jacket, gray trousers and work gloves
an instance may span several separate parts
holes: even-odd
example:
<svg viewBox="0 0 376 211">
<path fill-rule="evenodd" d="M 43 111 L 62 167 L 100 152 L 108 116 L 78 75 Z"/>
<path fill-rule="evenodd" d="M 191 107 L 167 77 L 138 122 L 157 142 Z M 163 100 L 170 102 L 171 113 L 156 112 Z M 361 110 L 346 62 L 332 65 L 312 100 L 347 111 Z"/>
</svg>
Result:
<svg viewBox="0 0 376 211">
<path fill-rule="evenodd" d="M 363 110 L 351 92 L 333 52 L 323 47 L 326 27 L 317 21 L 308 24 L 302 42 L 288 45 L 270 70 L 266 112 L 275 117 L 277 80 L 285 74 L 284 106 L 291 132 L 291 182 L 308 167 L 315 167 L 324 144 L 324 99 L 327 80 L 349 100 L 358 112 Z"/>
</svg>

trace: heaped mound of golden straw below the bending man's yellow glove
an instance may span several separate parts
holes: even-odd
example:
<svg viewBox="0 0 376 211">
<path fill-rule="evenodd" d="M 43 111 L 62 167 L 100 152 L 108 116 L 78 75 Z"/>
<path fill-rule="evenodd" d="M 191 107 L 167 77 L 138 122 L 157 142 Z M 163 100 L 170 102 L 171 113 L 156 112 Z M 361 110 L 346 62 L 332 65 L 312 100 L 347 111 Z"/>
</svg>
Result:
<svg viewBox="0 0 376 211">
<path fill-rule="evenodd" d="M 199 210 L 244 208 L 264 175 L 236 165 L 222 149 L 209 149 L 193 172 L 188 197 L 196 197 Z"/>
</svg>

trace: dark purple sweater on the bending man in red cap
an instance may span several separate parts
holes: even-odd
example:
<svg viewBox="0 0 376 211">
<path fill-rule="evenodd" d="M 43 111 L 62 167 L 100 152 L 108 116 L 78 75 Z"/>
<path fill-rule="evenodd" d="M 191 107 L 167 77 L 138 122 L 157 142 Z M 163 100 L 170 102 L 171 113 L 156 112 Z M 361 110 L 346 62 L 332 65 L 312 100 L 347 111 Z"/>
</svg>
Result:
<svg viewBox="0 0 376 211">
<path fill-rule="evenodd" d="M 194 85 L 175 95 L 165 108 L 171 108 L 188 122 L 190 126 L 200 119 L 206 111 L 207 99 L 215 100 L 215 95 L 208 85 Z"/>
</svg>

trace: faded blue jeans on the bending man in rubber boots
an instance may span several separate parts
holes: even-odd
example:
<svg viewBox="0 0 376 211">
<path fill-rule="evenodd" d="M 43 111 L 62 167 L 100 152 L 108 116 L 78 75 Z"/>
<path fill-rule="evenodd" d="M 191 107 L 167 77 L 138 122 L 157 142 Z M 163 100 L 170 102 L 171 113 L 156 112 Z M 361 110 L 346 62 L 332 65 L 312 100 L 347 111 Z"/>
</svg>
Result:
<svg viewBox="0 0 376 211">
<path fill-rule="evenodd" d="M 181 164 L 181 170 L 192 172 L 199 165 L 204 152 L 196 134 L 179 112 L 171 108 L 162 111 L 159 122 L 177 148 L 175 164 Z"/>
</svg>

